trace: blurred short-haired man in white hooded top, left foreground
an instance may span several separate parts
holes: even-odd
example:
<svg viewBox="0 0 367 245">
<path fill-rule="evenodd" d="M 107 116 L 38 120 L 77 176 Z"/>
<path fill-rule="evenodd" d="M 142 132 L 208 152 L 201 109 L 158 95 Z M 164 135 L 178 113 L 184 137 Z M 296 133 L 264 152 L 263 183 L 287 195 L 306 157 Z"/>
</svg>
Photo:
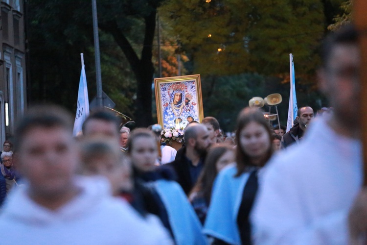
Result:
<svg viewBox="0 0 367 245">
<path fill-rule="evenodd" d="M 15 164 L 26 180 L 0 215 L 1 244 L 169 244 L 108 192 L 104 180 L 76 176 L 72 118 L 56 106 L 30 109 L 15 131 Z"/>
</svg>

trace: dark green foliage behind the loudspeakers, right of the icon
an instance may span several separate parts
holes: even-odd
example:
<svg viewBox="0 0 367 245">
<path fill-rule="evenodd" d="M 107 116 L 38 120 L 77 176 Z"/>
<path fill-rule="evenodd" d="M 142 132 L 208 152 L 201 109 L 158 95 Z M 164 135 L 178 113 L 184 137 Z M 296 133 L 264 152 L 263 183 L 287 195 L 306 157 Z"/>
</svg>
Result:
<svg viewBox="0 0 367 245">
<path fill-rule="evenodd" d="M 235 130 L 238 113 L 246 106 L 252 97 L 265 98 L 270 94 L 280 94 L 283 101 L 277 106 L 280 124 L 286 125 L 288 117 L 288 101 L 290 85 L 281 84 L 279 78 L 267 77 L 257 73 L 243 73 L 230 76 L 209 76 L 203 78 L 204 116 L 218 119 L 225 131 Z M 298 106 L 311 106 L 315 112 L 326 101 L 316 91 L 310 91 L 309 85 L 300 84 L 296 80 Z M 269 112 L 269 107 L 264 106 Z M 275 113 L 275 108 L 272 108 Z M 277 121 L 272 122 L 277 124 Z"/>
</svg>

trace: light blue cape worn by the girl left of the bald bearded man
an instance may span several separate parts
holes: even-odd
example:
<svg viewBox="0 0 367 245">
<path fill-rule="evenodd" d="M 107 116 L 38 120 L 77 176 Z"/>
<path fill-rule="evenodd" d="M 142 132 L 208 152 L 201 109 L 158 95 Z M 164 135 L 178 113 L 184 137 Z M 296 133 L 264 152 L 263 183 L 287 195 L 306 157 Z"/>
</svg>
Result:
<svg viewBox="0 0 367 245">
<path fill-rule="evenodd" d="M 164 179 L 155 182 L 156 190 L 167 210 L 177 245 L 206 245 L 202 226 L 181 186 Z"/>
</svg>

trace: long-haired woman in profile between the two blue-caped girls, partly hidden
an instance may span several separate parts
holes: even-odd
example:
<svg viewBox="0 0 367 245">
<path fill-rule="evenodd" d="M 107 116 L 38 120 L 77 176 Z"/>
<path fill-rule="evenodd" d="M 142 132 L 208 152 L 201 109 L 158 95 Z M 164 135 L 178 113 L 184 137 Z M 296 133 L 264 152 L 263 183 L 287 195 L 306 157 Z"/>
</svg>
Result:
<svg viewBox="0 0 367 245">
<path fill-rule="evenodd" d="M 234 163 L 234 159 L 233 148 L 223 143 L 211 147 L 206 155 L 203 172 L 189 194 L 191 205 L 202 224 L 210 204 L 214 179 L 224 167 Z"/>
</svg>

